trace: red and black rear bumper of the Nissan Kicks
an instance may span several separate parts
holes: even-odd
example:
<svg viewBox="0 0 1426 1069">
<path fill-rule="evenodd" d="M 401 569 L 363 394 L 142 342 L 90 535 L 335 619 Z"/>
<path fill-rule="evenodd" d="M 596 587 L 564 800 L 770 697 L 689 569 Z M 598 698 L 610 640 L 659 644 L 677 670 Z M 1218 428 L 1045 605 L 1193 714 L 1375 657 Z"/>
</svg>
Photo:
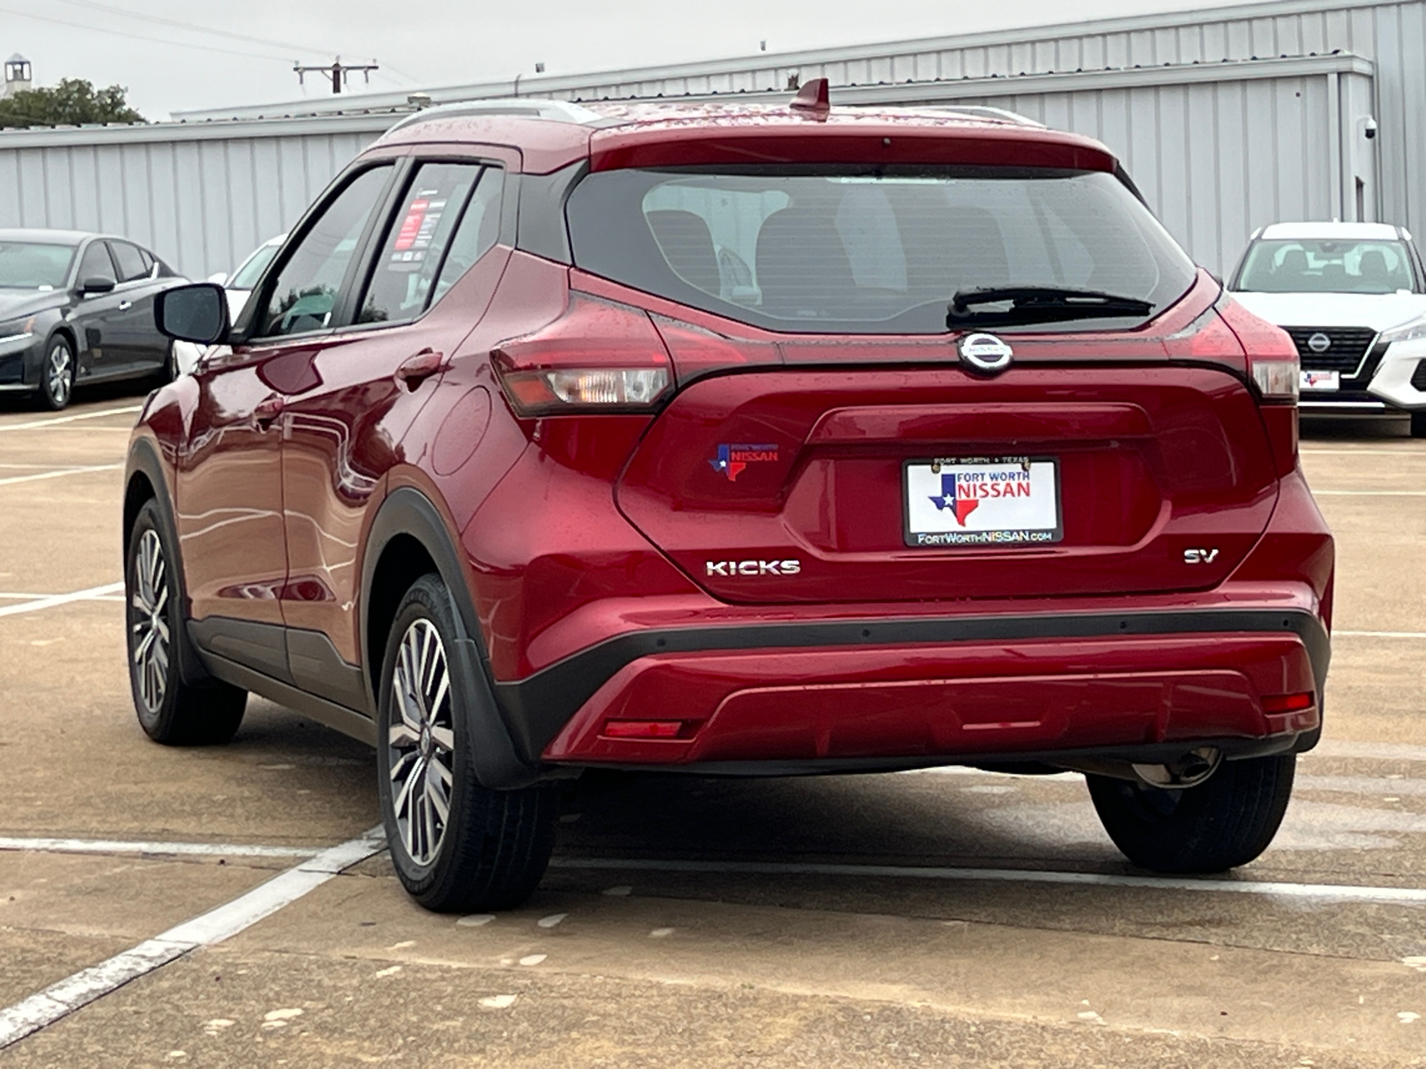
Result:
<svg viewBox="0 0 1426 1069">
<path fill-rule="evenodd" d="M 883 617 L 642 631 L 496 690 L 528 753 L 558 764 L 1152 761 L 1208 741 L 1229 755 L 1292 748 L 1320 723 L 1328 659 L 1318 616 L 1286 606 Z M 1262 708 L 1303 691 L 1313 708 Z M 680 728 L 610 737 L 610 720 Z"/>
</svg>

